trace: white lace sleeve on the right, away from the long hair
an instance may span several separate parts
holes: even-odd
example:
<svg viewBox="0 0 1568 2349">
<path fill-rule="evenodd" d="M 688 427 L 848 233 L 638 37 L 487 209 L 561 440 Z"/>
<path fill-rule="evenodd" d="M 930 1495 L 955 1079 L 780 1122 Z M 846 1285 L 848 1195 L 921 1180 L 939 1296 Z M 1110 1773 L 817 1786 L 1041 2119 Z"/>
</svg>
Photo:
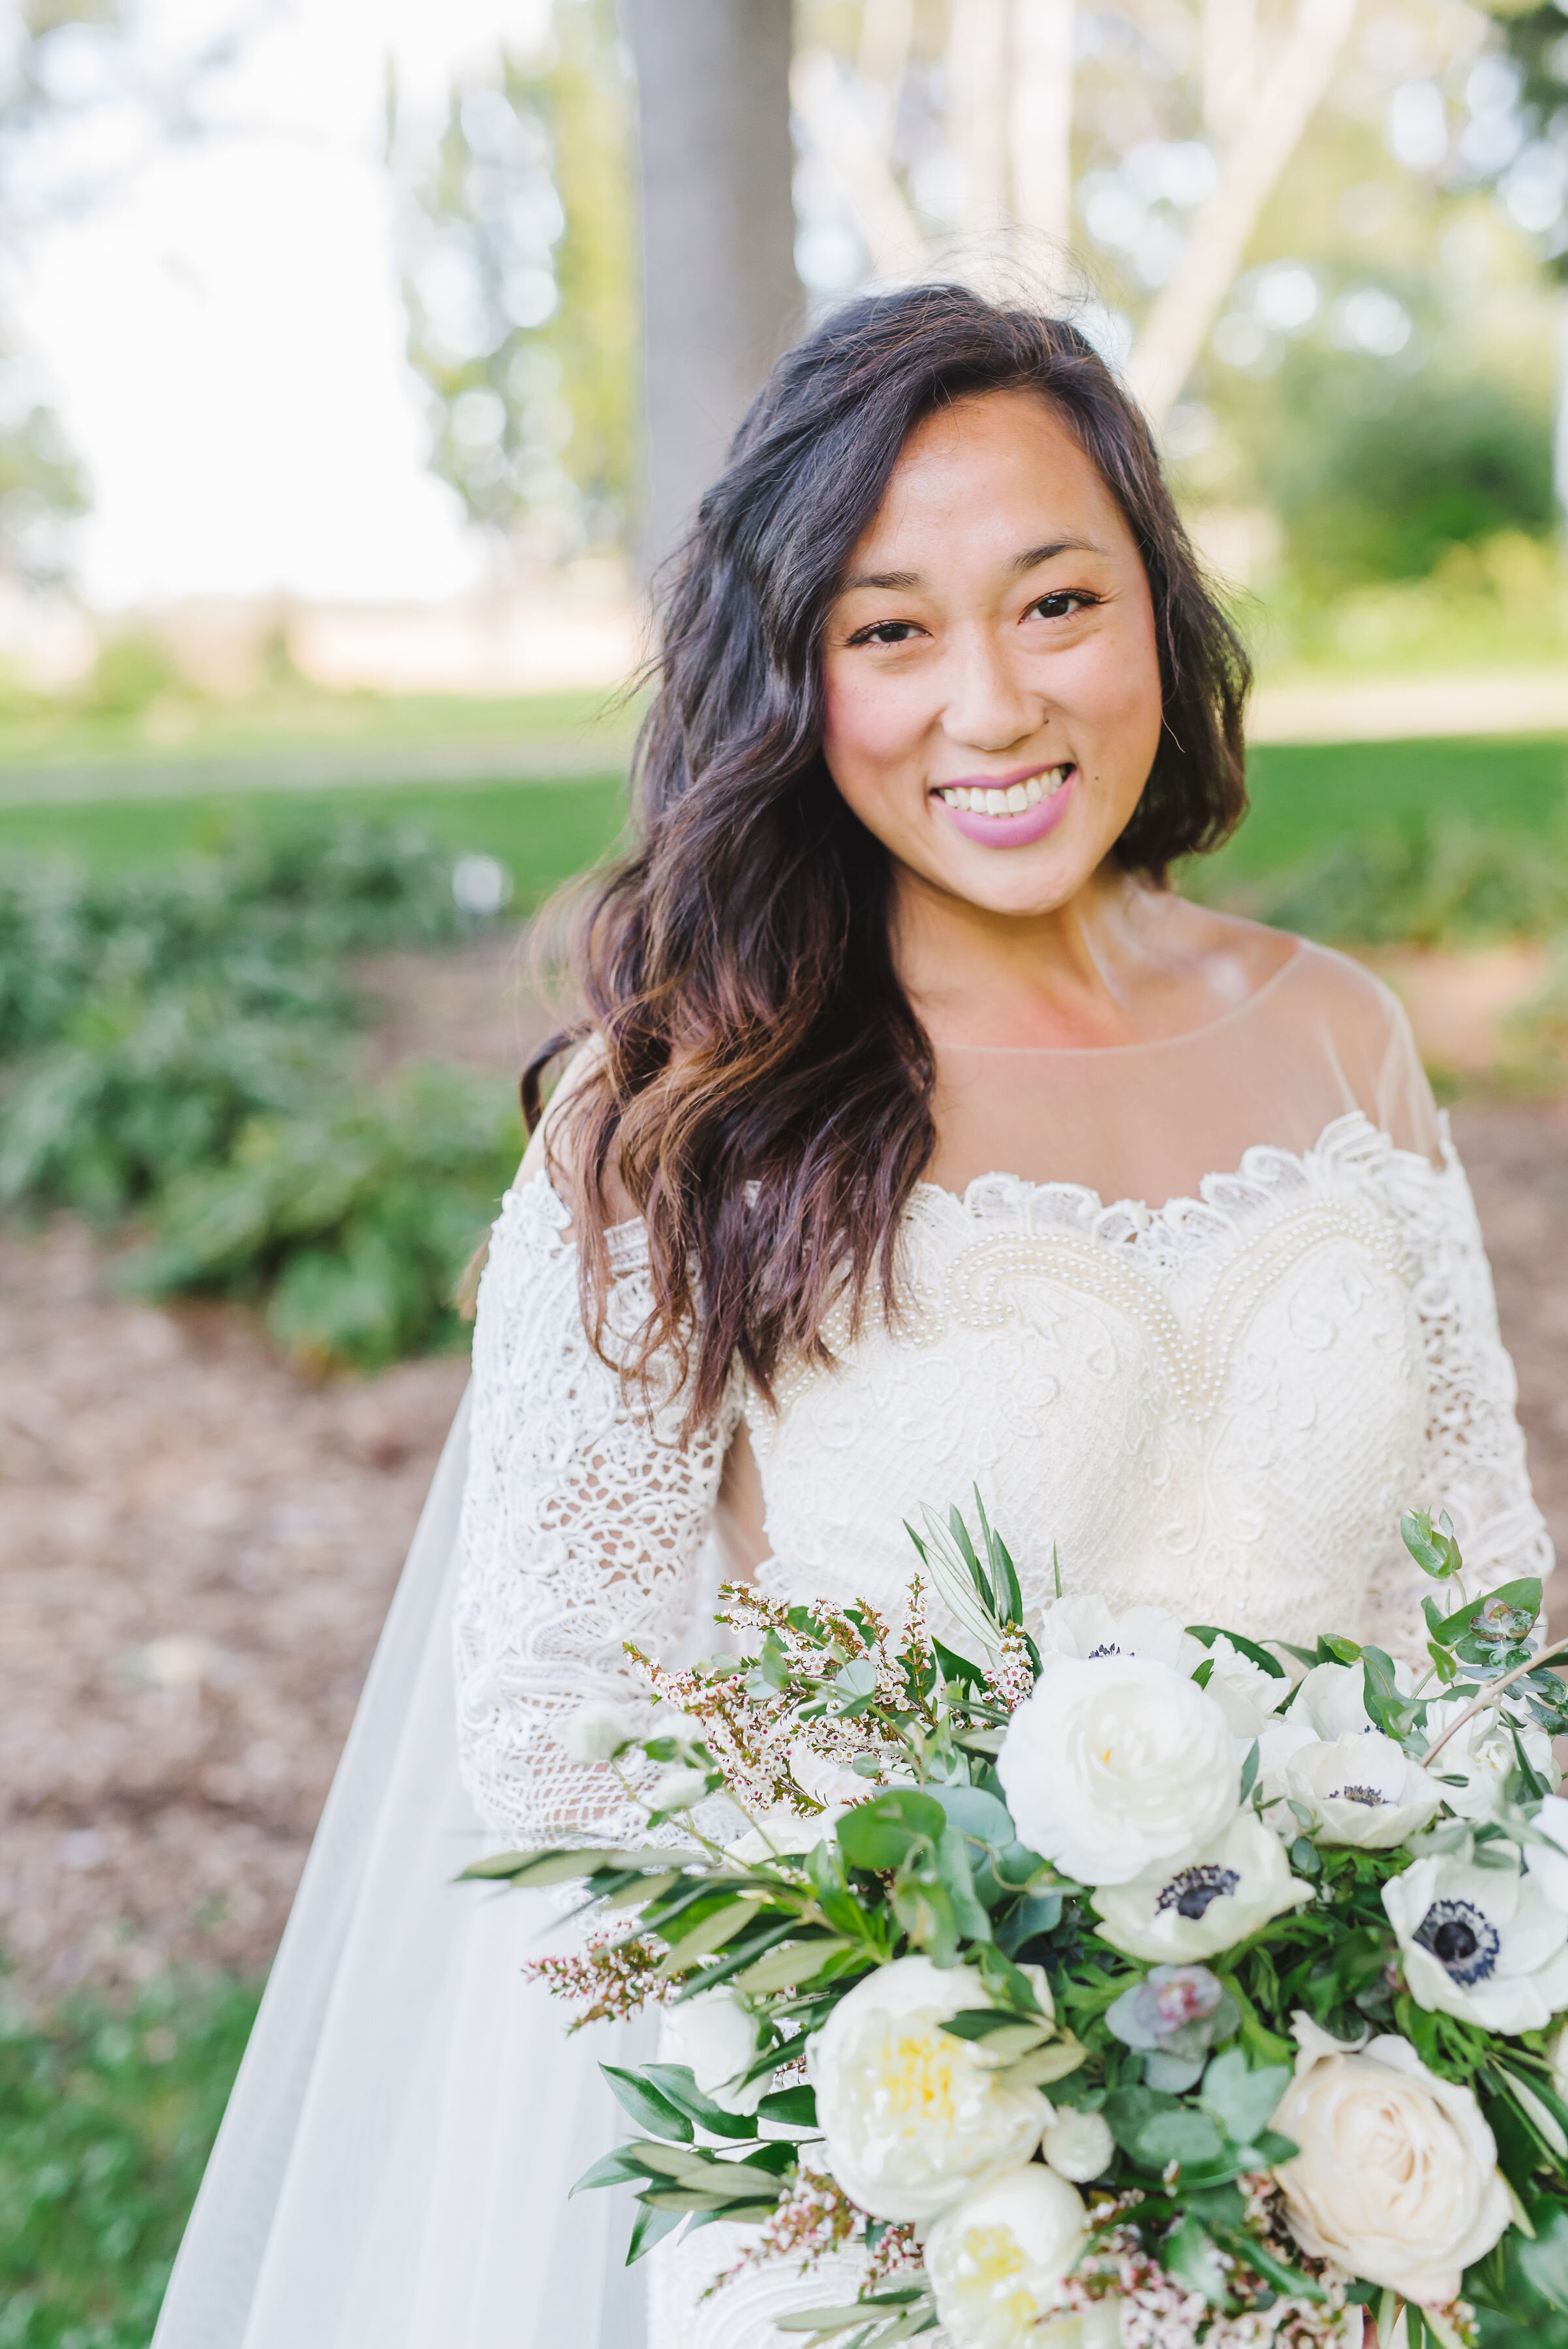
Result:
<svg viewBox="0 0 1568 2349">
<path fill-rule="evenodd" d="M 1453 1517 L 1474 1595 L 1516 1574 L 1547 1576 L 1552 1536 L 1530 1496 L 1514 1365 L 1498 1334 L 1481 1221 L 1446 1120 L 1441 1151 L 1441 1167 L 1399 1153 L 1392 1174 L 1427 1358 L 1427 1440 L 1413 1501 Z M 1394 1656 L 1420 1656 L 1420 1602 L 1432 1588 L 1394 1541 L 1368 1588 L 1361 1635 Z"/>
</svg>

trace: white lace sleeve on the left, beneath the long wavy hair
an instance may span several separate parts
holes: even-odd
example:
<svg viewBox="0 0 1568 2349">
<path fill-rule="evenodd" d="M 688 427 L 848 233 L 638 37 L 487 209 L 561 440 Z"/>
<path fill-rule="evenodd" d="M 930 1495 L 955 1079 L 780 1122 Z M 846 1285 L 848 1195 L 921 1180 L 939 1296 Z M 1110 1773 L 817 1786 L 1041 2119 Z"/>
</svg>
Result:
<svg viewBox="0 0 1568 2349">
<path fill-rule="evenodd" d="M 674 1381 L 643 1398 L 594 1353 L 568 1212 L 540 1174 L 502 1200 L 479 1287 L 455 1604 L 458 1748 L 488 1828 L 523 1844 L 615 1842 L 638 1813 L 559 1741 L 587 1698 L 634 1703 L 622 1654 L 692 1626 L 739 1388 L 681 1447 Z M 610 1236 L 610 1344 L 648 1313 L 641 1226 Z"/>
</svg>

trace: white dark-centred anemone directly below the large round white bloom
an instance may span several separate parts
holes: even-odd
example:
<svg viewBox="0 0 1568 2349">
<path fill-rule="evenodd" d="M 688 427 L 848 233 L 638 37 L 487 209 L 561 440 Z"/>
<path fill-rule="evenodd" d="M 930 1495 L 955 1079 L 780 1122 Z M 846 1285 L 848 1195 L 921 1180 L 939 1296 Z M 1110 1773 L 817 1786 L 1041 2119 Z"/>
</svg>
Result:
<svg viewBox="0 0 1568 2349">
<path fill-rule="evenodd" d="M 1145 1870 L 1129 1884 L 1101 1884 L 1094 1910 L 1101 1933 L 1155 1966 L 1190 1966 L 1235 1950 L 1270 1917 L 1312 1898 L 1291 1875 L 1277 1835 L 1253 1811 L 1237 1811 L 1223 1835 L 1190 1860 Z"/>
</svg>

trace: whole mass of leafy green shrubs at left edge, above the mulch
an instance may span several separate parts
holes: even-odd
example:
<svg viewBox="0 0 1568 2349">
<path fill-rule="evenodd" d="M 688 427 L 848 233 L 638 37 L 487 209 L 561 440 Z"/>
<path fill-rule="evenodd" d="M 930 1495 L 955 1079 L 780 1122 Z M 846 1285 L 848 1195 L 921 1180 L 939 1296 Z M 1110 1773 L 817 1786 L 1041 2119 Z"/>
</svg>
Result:
<svg viewBox="0 0 1568 2349">
<path fill-rule="evenodd" d="M 458 1334 L 453 1292 L 519 1156 L 507 1088 L 352 1081 L 350 949 L 451 937 L 451 864 L 406 827 L 235 836 L 155 876 L 0 886 L 0 1203 L 141 1210 L 127 1278 L 265 1301 L 312 1365 Z"/>
</svg>

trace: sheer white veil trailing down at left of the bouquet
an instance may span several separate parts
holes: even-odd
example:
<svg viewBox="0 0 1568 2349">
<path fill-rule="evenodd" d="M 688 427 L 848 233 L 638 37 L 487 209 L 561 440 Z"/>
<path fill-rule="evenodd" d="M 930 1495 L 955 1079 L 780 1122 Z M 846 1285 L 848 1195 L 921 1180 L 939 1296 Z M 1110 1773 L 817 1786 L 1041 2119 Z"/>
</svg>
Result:
<svg viewBox="0 0 1568 2349">
<path fill-rule="evenodd" d="M 451 1604 L 467 1400 L 446 1440 L 164 2297 L 155 2349 L 641 2349 L 601 2060 L 519 1980 L 545 1893 L 451 1886 Z M 638 2034 L 641 2037 L 641 2034 Z"/>
</svg>

